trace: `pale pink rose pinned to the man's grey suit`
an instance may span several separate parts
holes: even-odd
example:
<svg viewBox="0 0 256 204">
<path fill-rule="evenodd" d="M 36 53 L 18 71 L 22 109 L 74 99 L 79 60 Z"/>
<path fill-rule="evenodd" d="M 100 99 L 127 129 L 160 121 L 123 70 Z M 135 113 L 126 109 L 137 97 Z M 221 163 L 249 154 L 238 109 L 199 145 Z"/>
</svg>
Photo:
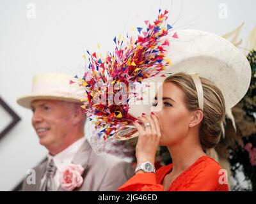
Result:
<svg viewBox="0 0 256 204">
<path fill-rule="evenodd" d="M 81 164 L 69 164 L 60 174 L 60 184 L 65 191 L 73 191 L 76 187 L 83 184 L 83 177 L 81 175 L 84 168 Z"/>
</svg>

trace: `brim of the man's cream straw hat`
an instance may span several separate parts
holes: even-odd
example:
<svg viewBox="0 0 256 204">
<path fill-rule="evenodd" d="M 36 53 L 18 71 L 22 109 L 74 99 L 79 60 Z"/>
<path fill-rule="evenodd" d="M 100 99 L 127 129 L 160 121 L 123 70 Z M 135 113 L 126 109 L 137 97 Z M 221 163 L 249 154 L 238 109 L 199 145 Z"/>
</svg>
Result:
<svg viewBox="0 0 256 204">
<path fill-rule="evenodd" d="M 26 95 L 22 96 L 17 99 L 17 103 L 24 108 L 31 108 L 31 103 L 35 100 L 39 99 L 49 99 L 49 100 L 56 100 L 56 101 L 65 101 L 65 102 L 72 102 L 72 103 L 83 103 L 81 99 L 74 98 L 74 97 L 65 97 L 65 96 L 53 96 L 53 95 Z"/>
</svg>

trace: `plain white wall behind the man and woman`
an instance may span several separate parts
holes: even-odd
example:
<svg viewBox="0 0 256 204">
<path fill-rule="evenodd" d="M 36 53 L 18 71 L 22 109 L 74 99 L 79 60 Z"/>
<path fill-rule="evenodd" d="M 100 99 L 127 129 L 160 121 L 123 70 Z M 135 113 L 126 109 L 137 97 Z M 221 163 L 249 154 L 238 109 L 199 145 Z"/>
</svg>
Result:
<svg viewBox="0 0 256 204">
<path fill-rule="evenodd" d="M 256 26 L 255 0 L 0 0 L 0 96 L 22 118 L 0 140 L 0 191 L 12 190 L 47 154 L 31 126 L 31 111 L 16 103 L 31 90 L 33 75 L 82 73 L 86 50 L 113 50 L 114 36 L 154 20 L 159 7 L 171 10 L 169 22 L 175 29 L 223 35 L 244 22 L 240 47 Z M 1 108 L 0 114 L 2 127 L 10 117 Z"/>
</svg>

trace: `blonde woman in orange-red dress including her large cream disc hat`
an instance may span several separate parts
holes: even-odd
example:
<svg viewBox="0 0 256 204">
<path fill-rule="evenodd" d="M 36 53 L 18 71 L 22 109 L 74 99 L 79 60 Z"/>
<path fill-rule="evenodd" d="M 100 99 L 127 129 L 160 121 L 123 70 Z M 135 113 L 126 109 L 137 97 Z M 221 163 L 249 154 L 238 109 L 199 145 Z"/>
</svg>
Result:
<svg viewBox="0 0 256 204">
<path fill-rule="evenodd" d="M 165 78 L 152 113 L 142 113 L 134 123 L 136 175 L 118 191 L 229 190 L 227 171 L 205 150 L 218 144 L 225 113 L 246 94 L 250 64 L 220 36 L 194 30 L 176 34 L 168 51 L 174 74 Z M 172 164 L 156 171 L 158 145 L 168 147 Z"/>
</svg>

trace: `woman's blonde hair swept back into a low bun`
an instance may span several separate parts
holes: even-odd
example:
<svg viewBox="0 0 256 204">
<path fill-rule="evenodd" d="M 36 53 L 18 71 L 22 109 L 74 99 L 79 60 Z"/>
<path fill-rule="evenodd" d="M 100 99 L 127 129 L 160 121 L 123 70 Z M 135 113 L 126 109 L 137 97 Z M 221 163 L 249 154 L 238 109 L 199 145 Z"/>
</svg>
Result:
<svg viewBox="0 0 256 204">
<path fill-rule="evenodd" d="M 225 100 L 220 89 L 210 80 L 199 77 L 204 91 L 204 118 L 199 129 L 199 138 L 204 150 L 215 147 L 220 142 L 221 124 L 225 119 Z M 186 73 L 175 73 L 164 82 L 172 82 L 185 94 L 185 104 L 189 111 L 199 110 L 198 97 L 193 79 Z"/>
</svg>

